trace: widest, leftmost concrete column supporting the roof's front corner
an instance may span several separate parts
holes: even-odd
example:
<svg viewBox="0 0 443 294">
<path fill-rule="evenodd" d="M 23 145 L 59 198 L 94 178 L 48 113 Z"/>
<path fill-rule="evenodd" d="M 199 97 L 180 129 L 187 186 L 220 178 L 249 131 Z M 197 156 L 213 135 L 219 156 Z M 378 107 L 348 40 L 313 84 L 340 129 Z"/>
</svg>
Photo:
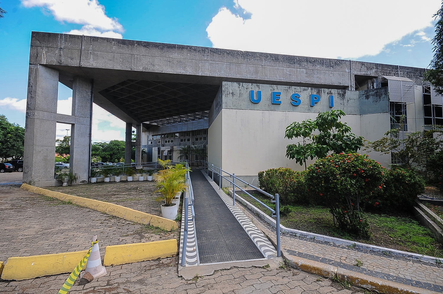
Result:
<svg viewBox="0 0 443 294">
<path fill-rule="evenodd" d="M 23 182 L 55 186 L 54 157 L 57 113 L 58 70 L 30 65 L 26 105 Z"/>
</svg>

